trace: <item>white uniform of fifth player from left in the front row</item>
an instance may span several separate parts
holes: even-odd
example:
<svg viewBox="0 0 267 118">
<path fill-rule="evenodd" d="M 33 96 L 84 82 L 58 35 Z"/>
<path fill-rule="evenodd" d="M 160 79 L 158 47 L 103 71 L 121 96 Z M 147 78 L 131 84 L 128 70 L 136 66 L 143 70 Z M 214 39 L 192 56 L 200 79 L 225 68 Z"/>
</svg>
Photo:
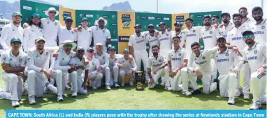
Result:
<svg viewBox="0 0 267 118">
<path fill-rule="evenodd" d="M 92 58 L 92 60 L 89 60 L 89 72 L 92 73 L 92 87 L 101 87 L 101 85 L 97 86 L 97 82 L 101 81 L 103 78 L 103 74 L 101 72 L 97 72 L 97 68 L 100 66 L 100 62 L 96 58 Z"/>
</svg>

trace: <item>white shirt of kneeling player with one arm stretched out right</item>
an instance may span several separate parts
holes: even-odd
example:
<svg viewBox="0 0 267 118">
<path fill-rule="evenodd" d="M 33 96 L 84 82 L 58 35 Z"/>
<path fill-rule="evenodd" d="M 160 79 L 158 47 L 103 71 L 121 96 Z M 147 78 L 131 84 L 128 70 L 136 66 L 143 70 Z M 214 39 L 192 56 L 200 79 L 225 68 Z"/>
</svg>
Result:
<svg viewBox="0 0 267 118">
<path fill-rule="evenodd" d="M 212 49 L 204 49 L 201 50 L 201 54 L 197 57 L 194 53 L 190 53 L 190 58 L 188 62 L 187 68 L 190 71 L 193 71 L 193 62 L 196 63 L 196 68 L 203 71 L 205 74 L 212 73 L 211 65 L 210 65 L 210 58 L 212 53 L 215 53 L 219 47 L 213 47 Z"/>
</svg>

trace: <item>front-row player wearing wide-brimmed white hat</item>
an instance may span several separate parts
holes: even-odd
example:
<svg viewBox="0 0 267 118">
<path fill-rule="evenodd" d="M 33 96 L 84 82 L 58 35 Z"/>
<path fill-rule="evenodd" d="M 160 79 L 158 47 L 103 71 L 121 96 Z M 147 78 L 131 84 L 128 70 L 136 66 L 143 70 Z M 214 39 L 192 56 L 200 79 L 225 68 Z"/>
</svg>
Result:
<svg viewBox="0 0 267 118">
<path fill-rule="evenodd" d="M 75 66 L 70 66 L 69 62 L 71 58 L 75 56 L 75 52 L 72 50 L 75 49 L 76 44 L 71 40 L 65 40 L 64 43 L 59 44 L 59 48 L 62 50 L 59 51 L 58 57 L 55 59 L 54 64 L 50 67 L 52 69 L 52 78 L 55 78 L 57 83 L 57 101 L 64 101 L 63 94 L 65 92 L 65 84 L 68 76 L 66 76 L 68 69 L 75 68 Z M 73 87 L 73 97 L 77 96 L 78 87 L 77 87 L 77 72 L 72 72 L 69 74 L 71 86 Z"/>
</svg>

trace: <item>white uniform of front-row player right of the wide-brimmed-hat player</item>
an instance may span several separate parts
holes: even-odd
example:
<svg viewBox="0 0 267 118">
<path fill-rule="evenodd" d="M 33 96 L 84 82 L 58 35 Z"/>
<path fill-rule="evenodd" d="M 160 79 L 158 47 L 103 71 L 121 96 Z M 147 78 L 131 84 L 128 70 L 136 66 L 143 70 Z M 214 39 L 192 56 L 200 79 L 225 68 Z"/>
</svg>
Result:
<svg viewBox="0 0 267 118">
<path fill-rule="evenodd" d="M 85 65 L 85 58 L 82 57 L 82 60 L 80 60 L 77 56 L 74 58 L 71 58 L 71 61 L 69 62 L 70 65 L 74 65 L 75 67 L 85 67 L 85 71 L 89 70 L 89 65 Z M 83 69 L 78 69 L 75 72 L 77 73 L 77 86 L 78 86 L 78 92 L 80 94 L 87 94 L 87 88 L 82 87 L 82 83 L 84 80 L 82 78 L 82 71 Z"/>
</svg>

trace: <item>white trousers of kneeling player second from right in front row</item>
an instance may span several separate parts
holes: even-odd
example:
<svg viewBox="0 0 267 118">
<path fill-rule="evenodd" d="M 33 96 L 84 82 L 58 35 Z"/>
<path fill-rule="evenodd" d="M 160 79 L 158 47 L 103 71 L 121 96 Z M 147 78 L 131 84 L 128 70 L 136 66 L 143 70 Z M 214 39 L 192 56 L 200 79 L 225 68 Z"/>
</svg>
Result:
<svg viewBox="0 0 267 118">
<path fill-rule="evenodd" d="M 238 82 L 238 74 L 231 73 L 219 74 L 219 94 L 222 97 L 240 96 L 240 92 L 236 89 Z"/>
</svg>

